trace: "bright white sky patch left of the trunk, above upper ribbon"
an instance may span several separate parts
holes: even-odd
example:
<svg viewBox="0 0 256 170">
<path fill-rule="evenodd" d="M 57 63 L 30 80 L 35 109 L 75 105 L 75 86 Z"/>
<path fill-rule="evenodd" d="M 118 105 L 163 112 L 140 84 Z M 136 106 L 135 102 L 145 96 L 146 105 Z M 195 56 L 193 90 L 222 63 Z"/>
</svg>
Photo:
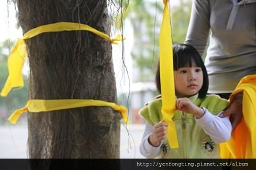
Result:
<svg viewBox="0 0 256 170">
<path fill-rule="evenodd" d="M 18 37 L 22 37 L 22 30 L 17 30 L 16 28 L 15 7 L 13 3 L 9 6 L 8 16 L 8 5 L 6 1 L 0 1 L 0 23 L 0 41 L 8 38 L 16 40 Z"/>
</svg>

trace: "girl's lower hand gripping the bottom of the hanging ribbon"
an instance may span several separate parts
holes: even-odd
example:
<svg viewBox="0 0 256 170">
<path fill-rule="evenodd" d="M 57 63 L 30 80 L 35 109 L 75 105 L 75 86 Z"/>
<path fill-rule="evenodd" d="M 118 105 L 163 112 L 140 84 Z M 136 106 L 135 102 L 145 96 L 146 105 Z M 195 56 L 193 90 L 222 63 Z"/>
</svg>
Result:
<svg viewBox="0 0 256 170">
<path fill-rule="evenodd" d="M 153 126 L 151 135 L 149 136 L 149 143 L 153 147 L 158 147 L 159 144 L 166 138 L 168 124 L 166 122 L 158 122 Z"/>
</svg>

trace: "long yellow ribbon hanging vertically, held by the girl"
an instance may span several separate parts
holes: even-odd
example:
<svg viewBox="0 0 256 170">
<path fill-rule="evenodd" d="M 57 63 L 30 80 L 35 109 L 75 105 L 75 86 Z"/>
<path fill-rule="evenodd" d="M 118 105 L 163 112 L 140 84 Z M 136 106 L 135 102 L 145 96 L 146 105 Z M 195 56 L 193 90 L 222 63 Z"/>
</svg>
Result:
<svg viewBox="0 0 256 170">
<path fill-rule="evenodd" d="M 162 114 L 168 123 L 167 139 L 171 148 L 178 148 L 177 131 L 172 117 L 175 113 L 175 87 L 173 75 L 172 28 L 168 1 L 163 0 L 165 8 L 159 36 L 159 61 L 162 96 Z"/>
</svg>

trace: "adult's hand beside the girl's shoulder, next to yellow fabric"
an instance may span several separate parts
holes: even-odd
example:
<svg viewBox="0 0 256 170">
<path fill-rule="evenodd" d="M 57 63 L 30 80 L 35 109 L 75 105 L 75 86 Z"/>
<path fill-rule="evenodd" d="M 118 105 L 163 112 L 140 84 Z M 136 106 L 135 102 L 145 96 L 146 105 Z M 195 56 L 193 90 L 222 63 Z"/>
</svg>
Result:
<svg viewBox="0 0 256 170">
<path fill-rule="evenodd" d="M 230 121 L 232 124 L 232 131 L 236 129 L 236 126 L 241 122 L 243 118 L 243 93 L 238 93 L 234 96 L 234 100 L 231 101 L 229 107 L 222 113 L 223 117 L 230 116 Z"/>
</svg>

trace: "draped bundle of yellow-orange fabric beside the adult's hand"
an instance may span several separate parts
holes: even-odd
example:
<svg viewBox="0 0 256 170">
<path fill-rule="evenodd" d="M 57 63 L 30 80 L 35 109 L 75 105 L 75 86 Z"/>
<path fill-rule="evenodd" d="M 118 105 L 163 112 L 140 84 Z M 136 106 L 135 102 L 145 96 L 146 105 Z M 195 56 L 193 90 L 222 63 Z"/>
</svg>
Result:
<svg viewBox="0 0 256 170">
<path fill-rule="evenodd" d="M 241 79 L 230 97 L 243 92 L 243 119 L 231 138 L 220 143 L 220 157 L 225 159 L 256 159 L 256 74 Z"/>
</svg>

